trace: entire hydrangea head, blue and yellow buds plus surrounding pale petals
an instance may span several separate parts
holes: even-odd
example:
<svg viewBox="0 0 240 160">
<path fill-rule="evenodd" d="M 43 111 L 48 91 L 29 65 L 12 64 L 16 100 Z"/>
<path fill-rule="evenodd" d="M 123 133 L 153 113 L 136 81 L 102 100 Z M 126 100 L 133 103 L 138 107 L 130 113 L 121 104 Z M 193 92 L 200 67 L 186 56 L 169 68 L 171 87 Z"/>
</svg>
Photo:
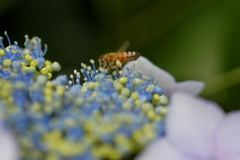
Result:
<svg viewBox="0 0 240 160">
<path fill-rule="evenodd" d="M 61 67 L 45 60 L 47 46 L 42 50 L 40 38 L 26 35 L 22 49 L 5 36 L 8 47 L 0 37 L 1 159 L 238 158 L 234 140 L 240 130 L 233 121 L 239 112 L 225 117 L 217 105 L 195 98 L 203 82 L 176 82 L 144 57 L 119 73 L 107 74 L 91 60 L 69 78 L 52 79 Z"/>
</svg>

